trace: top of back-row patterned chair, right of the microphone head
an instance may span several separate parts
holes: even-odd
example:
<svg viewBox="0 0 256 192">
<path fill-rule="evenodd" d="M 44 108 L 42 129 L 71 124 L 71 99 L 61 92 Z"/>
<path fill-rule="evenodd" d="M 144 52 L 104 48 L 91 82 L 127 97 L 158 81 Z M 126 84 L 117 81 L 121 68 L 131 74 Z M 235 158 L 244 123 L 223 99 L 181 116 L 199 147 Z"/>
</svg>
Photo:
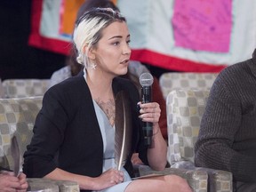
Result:
<svg viewBox="0 0 256 192">
<path fill-rule="evenodd" d="M 159 78 L 166 99 L 172 90 L 210 90 L 219 73 L 168 72 Z"/>
</svg>

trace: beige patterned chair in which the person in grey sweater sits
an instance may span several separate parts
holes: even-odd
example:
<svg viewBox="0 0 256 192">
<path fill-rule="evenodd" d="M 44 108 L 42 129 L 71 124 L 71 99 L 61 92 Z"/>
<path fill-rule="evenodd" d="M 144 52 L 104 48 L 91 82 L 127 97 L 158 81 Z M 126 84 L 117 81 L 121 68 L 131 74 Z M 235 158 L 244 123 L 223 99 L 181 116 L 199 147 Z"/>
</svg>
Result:
<svg viewBox="0 0 256 192">
<path fill-rule="evenodd" d="M 201 170 L 209 174 L 209 191 L 231 192 L 232 174 L 195 167 L 194 145 L 200 128 L 208 91 L 173 90 L 166 98 L 168 156 L 172 168 Z"/>
</svg>

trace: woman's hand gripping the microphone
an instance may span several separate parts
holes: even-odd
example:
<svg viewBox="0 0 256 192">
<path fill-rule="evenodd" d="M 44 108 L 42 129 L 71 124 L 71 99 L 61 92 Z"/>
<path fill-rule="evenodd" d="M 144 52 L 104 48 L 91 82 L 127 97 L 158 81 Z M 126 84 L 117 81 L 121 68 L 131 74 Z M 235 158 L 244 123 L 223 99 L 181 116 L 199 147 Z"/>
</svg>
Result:
<svg viewBox="0 0 256 192">
<path fill-rule="evenodd" d="M 140 119 L 143 122 L 151 122 L 154 124 L 158 124 L 161 109 L 158 103 L 150 102 L 150 103 L 138 103 L 140 105 Z"/>
</svg>

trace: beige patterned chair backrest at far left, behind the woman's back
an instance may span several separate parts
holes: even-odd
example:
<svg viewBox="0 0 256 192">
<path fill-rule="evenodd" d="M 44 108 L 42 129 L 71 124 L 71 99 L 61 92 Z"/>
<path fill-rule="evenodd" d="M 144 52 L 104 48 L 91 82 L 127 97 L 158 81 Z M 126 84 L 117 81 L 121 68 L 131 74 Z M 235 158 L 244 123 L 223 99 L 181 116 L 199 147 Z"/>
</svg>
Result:
<svg viewBox="0 0 256 192">
<path fill-rule="evenodd" d="M 42 100 L 42 96 L 0 99 L 0 166 L 13 170 L 10 151 L 13 135 L 17 137 L 20 156 L 23 156 L 32 138 L 36 116 L 42 108 Z"/>
</svg>

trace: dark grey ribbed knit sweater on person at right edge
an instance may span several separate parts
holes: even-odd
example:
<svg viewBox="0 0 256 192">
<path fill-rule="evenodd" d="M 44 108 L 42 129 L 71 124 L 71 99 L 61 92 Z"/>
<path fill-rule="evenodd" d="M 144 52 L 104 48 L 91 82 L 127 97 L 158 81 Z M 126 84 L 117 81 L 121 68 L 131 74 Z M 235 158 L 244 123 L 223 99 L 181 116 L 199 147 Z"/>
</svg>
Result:
<svg viewBox="0 0 256 192">
<path fill-rule="evenodd" d="M 256 182 L 256 50 L 217 76 L 196 141 L 196 166 Z"/>
</svg>

